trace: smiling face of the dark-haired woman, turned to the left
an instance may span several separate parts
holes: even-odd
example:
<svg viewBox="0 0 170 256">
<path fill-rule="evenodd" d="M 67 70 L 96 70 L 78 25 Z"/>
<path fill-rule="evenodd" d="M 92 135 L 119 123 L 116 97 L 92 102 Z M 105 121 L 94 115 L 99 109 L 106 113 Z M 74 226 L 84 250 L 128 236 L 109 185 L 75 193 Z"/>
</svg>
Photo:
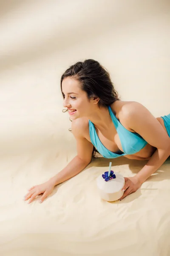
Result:
<svg viewBox="0 0 170 256">
<path fill-rule="evenodd" d="M 62 81 L 62 93 L 64 94 L 63 107 L 68 109 L 71 120 L 82 116 L 90 116 L 94 107 L 92 100 L 80 87 L 79 81 L 72 77 L 66 77 Z"/>
</svg>

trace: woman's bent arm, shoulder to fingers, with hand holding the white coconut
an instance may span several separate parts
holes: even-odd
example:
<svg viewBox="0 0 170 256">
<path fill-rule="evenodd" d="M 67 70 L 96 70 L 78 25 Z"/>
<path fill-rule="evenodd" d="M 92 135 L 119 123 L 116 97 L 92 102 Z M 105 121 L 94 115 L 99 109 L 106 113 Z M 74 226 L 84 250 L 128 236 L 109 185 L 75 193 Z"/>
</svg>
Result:
<svg viewBox="0 0 170 256">
<path fill-rule="evenodd" d="M 135 192 L 150 175 L 159 169 L 170 155 L 170 137 L 147 108 L 137 102 L 133 102 L 127 111 L 127 120 L 131 129 L 157 149 L 136 176 L 125 179 L 126 182 L 123 188 L 125 193 L 121 199 Z"/>
</svg>

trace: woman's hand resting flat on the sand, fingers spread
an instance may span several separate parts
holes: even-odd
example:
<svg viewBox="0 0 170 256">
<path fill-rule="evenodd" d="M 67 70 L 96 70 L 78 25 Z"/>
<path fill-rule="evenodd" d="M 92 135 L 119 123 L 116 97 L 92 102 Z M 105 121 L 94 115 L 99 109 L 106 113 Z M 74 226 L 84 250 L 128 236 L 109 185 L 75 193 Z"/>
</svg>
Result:
<svg viewBox="0 0 170 256">
<path fill-rule="evenodd" d="M 37 195 L 41 195 L 39 202 L 42 203 L 44 199 L 51 194 L 51 192 L 54 189 L 55 184 L 51 181 L 48 180 L 45 183 L 42 183 L 37 186 L 33 186 L 30 189 L 28 189 L 28 193 L 24 197 L 24 201 L 27 201 L 29 198 L 30 200 L 28 201 L 28 204 L 30 204 L 36 197 Z"/>
</svg>

